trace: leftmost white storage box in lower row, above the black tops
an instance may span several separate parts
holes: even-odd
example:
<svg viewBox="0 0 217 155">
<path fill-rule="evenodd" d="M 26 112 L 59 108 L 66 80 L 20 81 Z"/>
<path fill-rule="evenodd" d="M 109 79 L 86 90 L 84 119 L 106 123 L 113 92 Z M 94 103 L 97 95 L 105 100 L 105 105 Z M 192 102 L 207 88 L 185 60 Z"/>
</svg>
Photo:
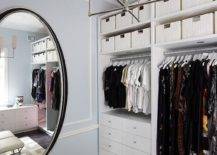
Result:
<svg viewBox="0 0 217 155">
<path fill-rule="evenodd" d="M 115 50 L 114 37 L 102 39 L 102 53 L 110 53 Z"/>
</svg>

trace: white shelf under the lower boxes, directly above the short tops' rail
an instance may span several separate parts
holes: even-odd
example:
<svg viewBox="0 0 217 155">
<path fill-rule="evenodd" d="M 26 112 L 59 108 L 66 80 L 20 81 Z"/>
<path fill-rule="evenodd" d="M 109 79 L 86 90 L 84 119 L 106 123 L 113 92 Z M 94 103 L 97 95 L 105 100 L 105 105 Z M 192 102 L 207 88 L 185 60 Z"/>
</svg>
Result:
<svg viewBox="0 0 217 155">
<path fill-rule="evenodd" d="M 131 48 L 121 51 L 114 51 L 109 53 L 100 53 L 101 55 L 125 55 L 125 54 L 133 54 L 133 53 L 143 53 L 151 50 L 151 46 L 147 46 L 144 48 Z"/>
</svg>

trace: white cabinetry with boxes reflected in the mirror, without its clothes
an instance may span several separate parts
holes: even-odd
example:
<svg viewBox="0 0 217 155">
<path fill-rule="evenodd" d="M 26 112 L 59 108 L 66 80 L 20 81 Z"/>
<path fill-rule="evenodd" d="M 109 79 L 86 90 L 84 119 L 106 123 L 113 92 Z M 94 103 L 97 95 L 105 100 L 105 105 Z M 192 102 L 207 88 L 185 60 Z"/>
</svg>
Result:
<svg viewBox="0 0 217 155">
<path fill-rule="evenodd" d="M 39 107 L 39 127 L 48 133 L 53 133 L 56 128 L 59 112 L 52 109 L 51 105 L 51 73 L 59 68 L 58 52 L 55 43 L 50 36 L 32 43 L 32 69 L 45 70 L 45 100 L 34 104 Z"/>
</svg>

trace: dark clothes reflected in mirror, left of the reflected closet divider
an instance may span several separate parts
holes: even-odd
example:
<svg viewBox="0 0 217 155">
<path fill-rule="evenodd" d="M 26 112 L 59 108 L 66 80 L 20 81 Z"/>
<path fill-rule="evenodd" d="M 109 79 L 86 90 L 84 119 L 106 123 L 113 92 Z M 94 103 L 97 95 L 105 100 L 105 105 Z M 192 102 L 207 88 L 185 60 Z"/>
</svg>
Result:
<svg viewBox="0 0 217 155">
<path fill-rule="evenodd" d="M 35 69 L 32 72 L 32 98 L 41 103 L 46 98 L 45 93 L 45 70 Z"/>
</svg>

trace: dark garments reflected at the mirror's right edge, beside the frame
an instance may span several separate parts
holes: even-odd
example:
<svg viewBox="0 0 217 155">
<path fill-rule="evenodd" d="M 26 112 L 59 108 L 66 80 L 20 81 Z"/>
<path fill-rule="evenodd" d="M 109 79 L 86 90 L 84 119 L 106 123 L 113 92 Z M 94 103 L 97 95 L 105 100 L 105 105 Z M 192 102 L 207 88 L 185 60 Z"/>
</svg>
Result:
<svg viewBox="0 0 217 155">
<path fill-rule="evenodd" d="M 59 110 L 60 109 L 60 101 L 61 101 L 61 75 L 60 71 L 53 71 L 51 73 L 51 104 L 52 109 Z"/>
</svg>

